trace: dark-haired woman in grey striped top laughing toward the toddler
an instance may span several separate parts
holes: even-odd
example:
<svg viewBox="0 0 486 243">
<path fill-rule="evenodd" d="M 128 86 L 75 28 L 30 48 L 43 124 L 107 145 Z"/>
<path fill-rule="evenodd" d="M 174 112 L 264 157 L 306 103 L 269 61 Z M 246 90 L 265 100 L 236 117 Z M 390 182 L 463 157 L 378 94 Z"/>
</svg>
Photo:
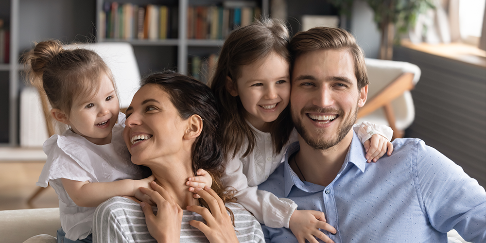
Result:
<svg viewBox="0 0 486 243">
<path fill-rule="evenodd" d="M 156 73 L 142 80 L 126 114 L 123 139 L 132 162 L 152 170 L 154 190 L 140 189 L 148 196 L 144 202 L 114 197 L 101 204 L 93 221 L 95 241 L 263 242 L 258 221 L 221 183 L 219 115 L 209 87 L 174 72 Z M 195 190 L 198 200 L 185 182 L 199 169 L 212 183 Z"/>
</svg>

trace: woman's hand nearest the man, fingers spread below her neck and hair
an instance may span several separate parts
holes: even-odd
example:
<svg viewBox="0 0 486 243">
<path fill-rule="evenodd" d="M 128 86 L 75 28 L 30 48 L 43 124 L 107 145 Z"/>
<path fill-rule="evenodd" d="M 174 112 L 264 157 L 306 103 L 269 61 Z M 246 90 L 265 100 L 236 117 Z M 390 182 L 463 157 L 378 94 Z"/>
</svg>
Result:
<svg viewBox="0 0 486 243">
<path fill-rule="evenodd" d="M 235 228 L 223 200 L 208 186 L 204 189 L 195 188 L 195 191 L 208 203 L 211 211 L 200 206 L 188 206 L 188 210 L 201 214 L 206 220 L 206 225 L 197 220 L 189 221 L 189 225 L 201 230 L 210 243 L 238 243 Z"/>
</svg>

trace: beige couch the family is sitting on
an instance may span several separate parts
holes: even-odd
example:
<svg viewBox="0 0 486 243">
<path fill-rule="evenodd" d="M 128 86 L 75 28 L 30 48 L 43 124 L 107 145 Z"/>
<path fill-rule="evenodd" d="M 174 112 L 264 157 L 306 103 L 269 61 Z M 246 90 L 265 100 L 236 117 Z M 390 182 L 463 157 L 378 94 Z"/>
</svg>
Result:
<svg viewBox="0 0 486 243">
<path fill-rule="evenodd" d="M 2 243 L 56 243 L 61 227 L 59 208 L 36 208 L 0 211 Z M 455 230 L 448 234 L 449 243 L 467 243 Z"/>
</svg>

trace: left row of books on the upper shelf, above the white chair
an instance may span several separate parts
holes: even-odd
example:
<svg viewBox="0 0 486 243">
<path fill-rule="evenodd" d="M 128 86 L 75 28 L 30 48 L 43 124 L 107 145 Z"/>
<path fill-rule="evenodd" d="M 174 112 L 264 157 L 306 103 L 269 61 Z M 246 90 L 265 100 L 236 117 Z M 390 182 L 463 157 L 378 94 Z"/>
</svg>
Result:
<svg viewBox="0 0 486 243">
<path fill-rule="evenodd" d="M 177 38 L 177 6 L 104 2 L 100 13 L 102 39 Z"/>
</svg>

